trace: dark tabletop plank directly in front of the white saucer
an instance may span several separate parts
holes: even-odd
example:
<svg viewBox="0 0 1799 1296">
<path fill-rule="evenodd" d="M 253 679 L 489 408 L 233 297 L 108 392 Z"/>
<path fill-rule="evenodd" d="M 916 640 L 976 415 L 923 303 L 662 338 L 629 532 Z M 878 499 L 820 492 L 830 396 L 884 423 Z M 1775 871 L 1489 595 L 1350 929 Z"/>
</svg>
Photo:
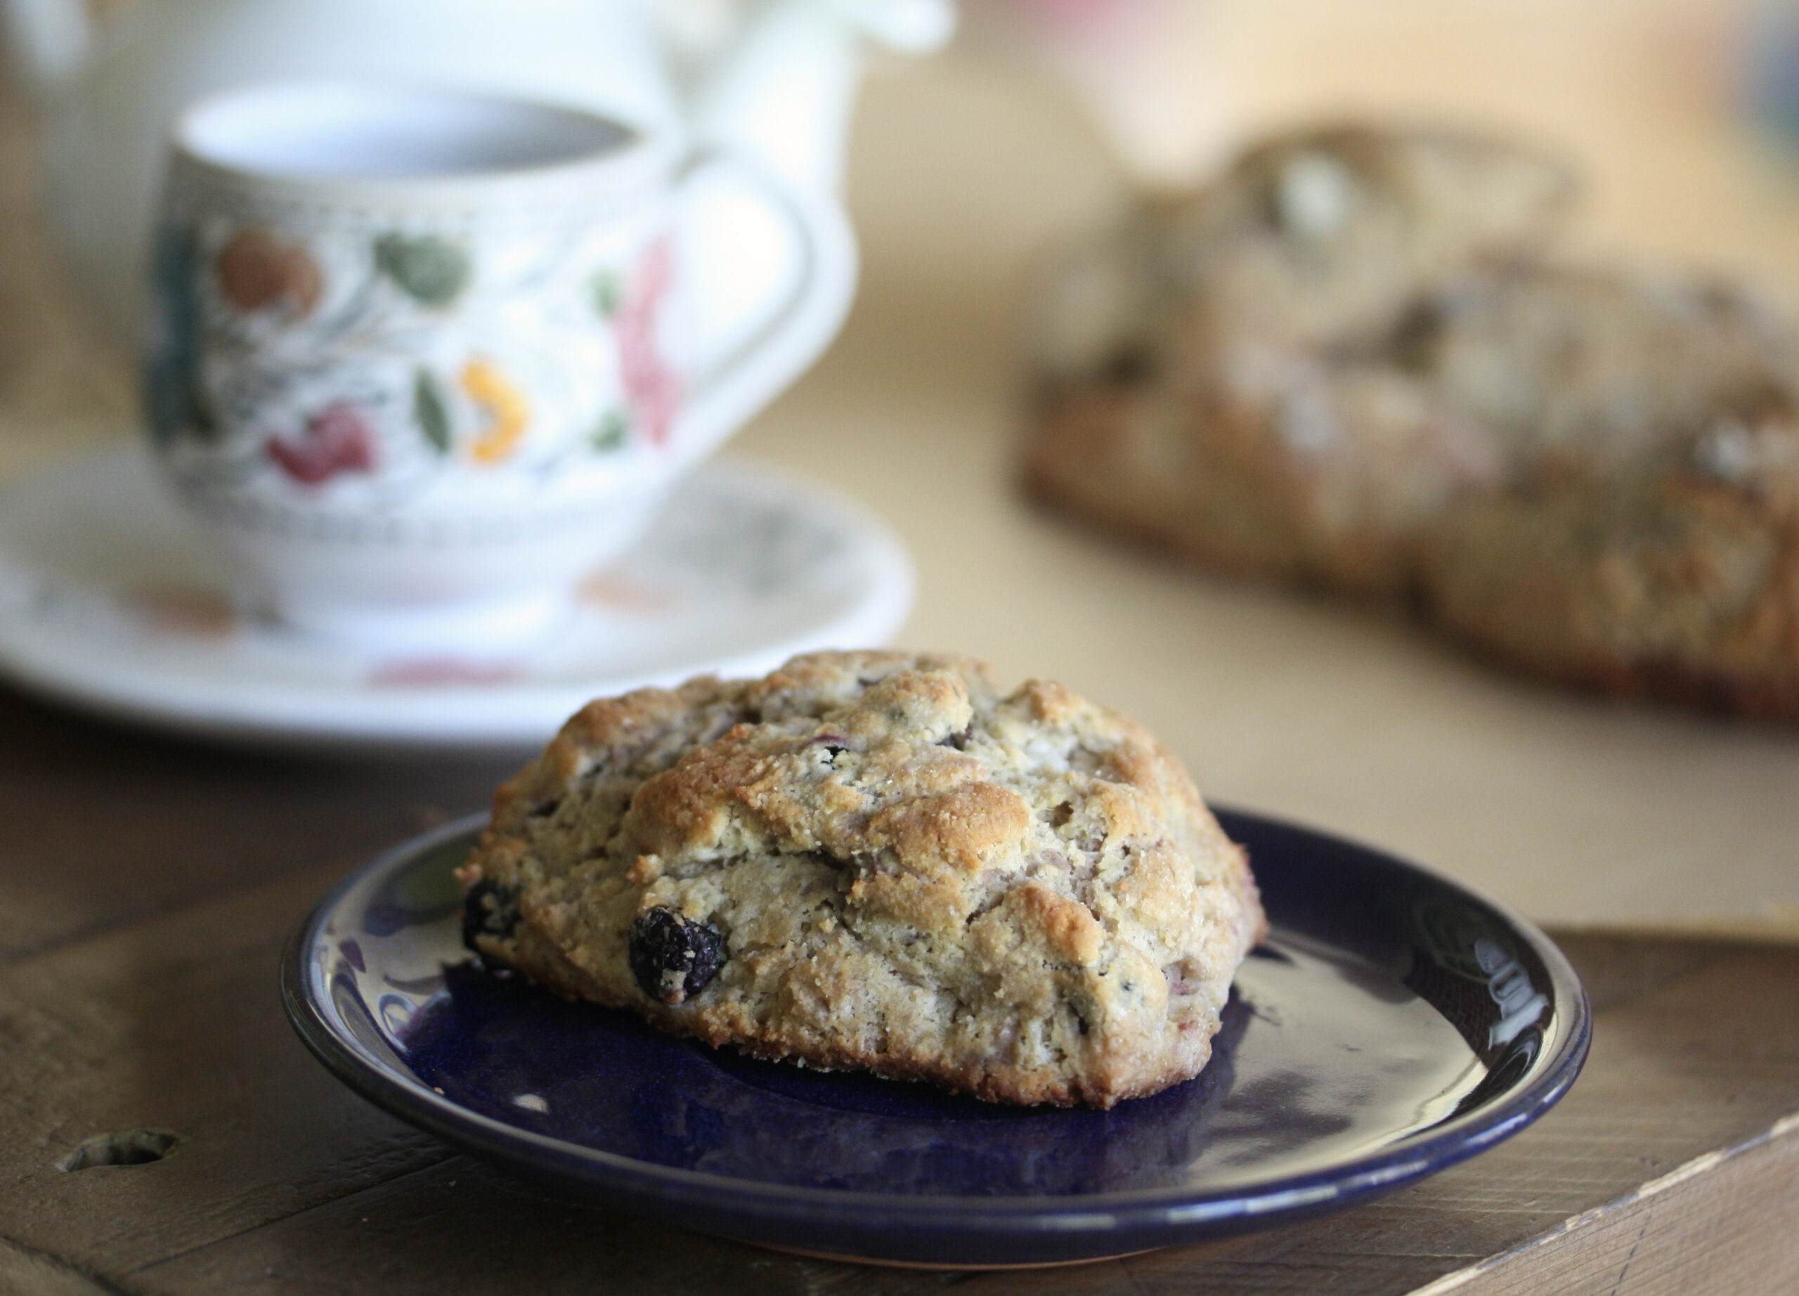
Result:
<svg viewBox="0 0 1799 1296">
<path fill-rule="evenodd" d="M 344 761 L 173 742 L 0 686 L 0 963 L 484 810 L 507 760 Z"/>
</svg>

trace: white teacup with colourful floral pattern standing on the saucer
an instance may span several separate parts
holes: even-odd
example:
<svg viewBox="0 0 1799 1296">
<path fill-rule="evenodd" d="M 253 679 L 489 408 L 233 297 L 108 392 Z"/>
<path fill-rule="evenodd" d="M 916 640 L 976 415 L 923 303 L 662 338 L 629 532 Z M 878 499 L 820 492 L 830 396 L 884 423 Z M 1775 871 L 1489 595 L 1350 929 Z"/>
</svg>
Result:
<svg viewBox="0 0 1799 1296">
<path fill-rule="evenodd" d="M 829 344 L 838 209 L 579 110 L 295 83 L 175 126 L 148 353 L 180 499 L 284 621 L 547 634 Z"/>
</svg>

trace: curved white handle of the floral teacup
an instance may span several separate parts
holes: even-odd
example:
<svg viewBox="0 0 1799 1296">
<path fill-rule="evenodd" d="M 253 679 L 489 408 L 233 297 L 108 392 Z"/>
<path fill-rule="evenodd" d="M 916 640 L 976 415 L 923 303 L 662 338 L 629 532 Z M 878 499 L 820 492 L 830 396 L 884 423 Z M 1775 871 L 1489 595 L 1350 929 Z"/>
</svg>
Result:
<svg viewBox="0 0 1799 1296">
<path fill-rule="evenodd" d="M 741 326 L 747 331 L 723 344 L 714 340 L 712 355 L 684 376 L 685 394 L 669 436 L 680 463 L 709 454 L 799 378 L 837 337 L 856 292 L 855 234 L 828 194 L 779 180 L 738 153 L 702 149 L 684 169 L 676 203 L 691 203 L 703 180 L 725 171 L 748 182 L 765 218 L 772 214 L 788 227 L 797 266 L 775 299 L 761 302 L 754 319 Z M 727 236 L 729 229 L 712 230 L 709 238 Z M 684 261 L 698 254 L 703 248 L 684 248 Z M 680 286 L 676 292 L 693 310 L 693 297 L 703 288 Z"/>
</svg>

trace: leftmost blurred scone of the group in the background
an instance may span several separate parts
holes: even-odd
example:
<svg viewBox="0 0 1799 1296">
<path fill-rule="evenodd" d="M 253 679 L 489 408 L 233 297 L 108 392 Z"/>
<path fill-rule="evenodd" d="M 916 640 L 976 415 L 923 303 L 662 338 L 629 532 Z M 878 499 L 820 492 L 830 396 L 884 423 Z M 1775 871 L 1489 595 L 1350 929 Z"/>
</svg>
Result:
<svg viewBox="0 0 1799 1296">
<path fill-rule="evenodd" d="M 1504 468 L 1412 371 L 1419 302 L 1538 252 L 1571 193 L 1553 160 L 1477 135 L 1250 149 L 1058 274 L 1029 484 L 1214 567 L 1403 594 L 1418 527 Z"/>
</svg>

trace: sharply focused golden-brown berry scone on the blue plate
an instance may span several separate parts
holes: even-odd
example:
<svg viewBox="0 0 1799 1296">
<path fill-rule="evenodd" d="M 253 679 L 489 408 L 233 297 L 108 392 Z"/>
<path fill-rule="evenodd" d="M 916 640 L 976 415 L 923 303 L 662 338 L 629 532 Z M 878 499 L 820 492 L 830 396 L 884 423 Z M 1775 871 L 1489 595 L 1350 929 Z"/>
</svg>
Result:
<svg viewBox="0 0 1799 1296">
<path fill-rule="evenodd" d="M 470 945 L 561 994 L 1013 1103 L 1196 1075 L 1265 932 L 1141 725 L 894 652 L 588 704 L 457 877 Z"/>
</svg>

